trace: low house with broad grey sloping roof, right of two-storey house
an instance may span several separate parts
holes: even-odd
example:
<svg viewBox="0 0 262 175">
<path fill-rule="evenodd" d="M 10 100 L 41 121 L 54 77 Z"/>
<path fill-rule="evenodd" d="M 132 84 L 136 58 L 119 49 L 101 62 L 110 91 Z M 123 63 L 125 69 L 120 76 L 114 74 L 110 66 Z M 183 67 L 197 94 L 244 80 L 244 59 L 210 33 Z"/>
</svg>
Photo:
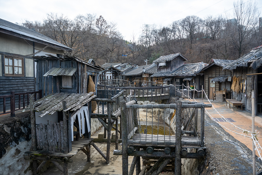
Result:
<svg viewBox="0 0 262 175">
<path fill-rule="evenodd" d="M 194 88 L 201 90 L 201 86 L 204 84 L 204 76 L 200 71 L 206 66 L 207 64 L 203 62 L 183 64 L 165 76 L 173 78 L 172 81 L 178 89 L 184 89 L 185 87 L 182 86 L 184 83 L 185 86 L 188 84 L 191 86 L 196 85 Z"/>
</svg>

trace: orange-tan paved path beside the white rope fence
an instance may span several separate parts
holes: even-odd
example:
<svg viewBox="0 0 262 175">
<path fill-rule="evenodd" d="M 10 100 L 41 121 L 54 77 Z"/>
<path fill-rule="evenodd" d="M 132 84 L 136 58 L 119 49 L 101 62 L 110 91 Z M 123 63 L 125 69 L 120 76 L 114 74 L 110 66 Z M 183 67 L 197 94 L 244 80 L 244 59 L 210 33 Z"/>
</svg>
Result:
<svg viewBox="0 0 262 175">
<path fill-rule="evenodd" d="M 192 101 L 192 100 L 191 100 Z M 201 102 L 201 100 L 198 100 L 198 102 Z M 208 100 L 203 100 L 203 102 L 205 104 L 208 104 Z M 252 131 L 252 115 L 251 113 L 248 113 L 246 111 L 241 111 L 241 108 L 235 108 L 235 111 L 233 111 L 233 108 L 231 107 L 231 109 L 229 109 L 229 104 L 227 104 L 225 102 L 217 102 L 217 101 L 213 101 L 211 100 L 211 103 L 213 104 L 213 106 L 217 109 L 217 111 L 224 117 L 224 118 L 232 118 L 235 122 L 232 122 L 234 125 L 246 129 L 248 131 Z M 216 111 L 214 108 L 206 108 L 206 110 L 208 111 L 208 113 L 213 117 L 213 118 L 222 118 Z M 207 114 L 207 113 L 206 113 Z M 224 127 L 243 134 L 242 130 L 234 127 L 233 125 L 231 125 L 229 122 L 218 122 L 219 124 L 223 125 Z M 223 128 L 225 129 L 225 128 Z M 260 141 L 260 144 L 262 145 L 262 117 L 261 115 L 259 116 L 255 116 L 255 130 L 257 130 L 258 133 L 258 139 Z M 250 150 L 252 150 L 252 140 L 249 139 L 248 137 L 244 137 L 238 134 L 235 134 L 233 132 L 230 132 L 229 130 L 225 129 L 226 132 L 228 132 L 229 134 L 231 134 L 235 139 L 237 139 L 238 141 L 240 141 L 241 143 L 245 144 Z M 244 134 L 246 135 L 246 134 Z M 250 136 L 250 134 L 248 135 Z M 256 152 L 256 155 L 258 156 L 258 153 Z M 262 156 L 262 155 L 261 155 Z"/>
</svg>

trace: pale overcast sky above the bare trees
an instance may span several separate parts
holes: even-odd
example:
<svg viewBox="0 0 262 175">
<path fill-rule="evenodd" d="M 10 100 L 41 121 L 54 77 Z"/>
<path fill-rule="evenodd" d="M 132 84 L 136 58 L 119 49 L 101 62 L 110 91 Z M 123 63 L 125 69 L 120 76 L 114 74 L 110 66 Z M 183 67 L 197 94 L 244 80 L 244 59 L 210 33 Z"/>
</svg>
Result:
<svg viewBox="0 0 262 175">
<path fill-rule="evenodd" d="M 249 0 L 243 0 L 247 2 Z M 43 21 L 47 13 L 63 13 L 70 19 L 78 14 L 102 15 L 116 22 L 123 39 L 139 37 L 143 24 L 167 26 L 188 15 L 204 18 L 233 12 L 234 0 L 0 0 L 0 18 L 13 23 Z M 262 0 L 256 0 L 261 12 Z M 262 15 L 261 15 L 262 16 Z"/>
</svg>

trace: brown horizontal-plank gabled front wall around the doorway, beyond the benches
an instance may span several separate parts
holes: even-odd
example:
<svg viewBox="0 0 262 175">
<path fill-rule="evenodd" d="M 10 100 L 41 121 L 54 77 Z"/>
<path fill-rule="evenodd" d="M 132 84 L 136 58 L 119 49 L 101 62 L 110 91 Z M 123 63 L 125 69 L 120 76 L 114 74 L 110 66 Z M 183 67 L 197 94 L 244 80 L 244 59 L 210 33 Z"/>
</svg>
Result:
<svg viewBox="0 0 262 175">
<path fill-rule="evenodd" d="M 233 76 L 233 71 L 230 70 L 222 70 L 223 68 L 217 65 L 213 65 L 205 70 L 205 87 L 204 90 L 206 95 L 208 95 L 208 88 L 209 88 L 209 78 L 215 78 L 218 76 Z M 216 89 L 215 91 L 219 91 L 219 83 L 215 83 Z"/>
</svg>

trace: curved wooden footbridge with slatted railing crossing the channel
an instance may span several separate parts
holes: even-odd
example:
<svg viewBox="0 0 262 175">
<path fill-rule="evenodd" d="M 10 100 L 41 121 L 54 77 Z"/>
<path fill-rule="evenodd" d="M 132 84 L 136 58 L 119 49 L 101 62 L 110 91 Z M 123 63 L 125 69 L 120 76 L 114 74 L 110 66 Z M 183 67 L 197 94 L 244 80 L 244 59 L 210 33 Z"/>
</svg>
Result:
<svg viewBox="0 0 262 175">
<path fill-rule="evenodd" d="M 116 95 L 124 90 L 123 97 L 135 96 L 137 101 L 155 101 L 169 99 L 170 86 L 151 86 L 151 87 L 113 87 L 106 85 L 98 85 L 98 98 L 108 98 L 108 94 Z"/>
</svg>

